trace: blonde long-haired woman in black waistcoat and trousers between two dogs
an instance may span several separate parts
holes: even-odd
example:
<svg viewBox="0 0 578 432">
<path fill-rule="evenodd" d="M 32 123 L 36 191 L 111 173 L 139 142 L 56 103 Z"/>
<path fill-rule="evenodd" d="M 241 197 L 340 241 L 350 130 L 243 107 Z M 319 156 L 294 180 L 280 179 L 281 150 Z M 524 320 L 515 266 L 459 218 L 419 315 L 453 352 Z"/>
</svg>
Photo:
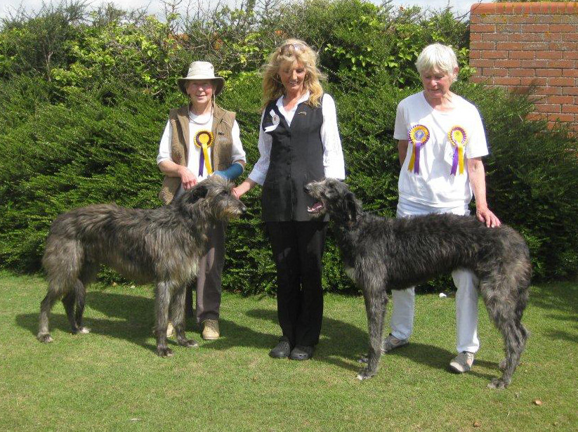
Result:
<svg viewBox="0 0 578 432">
<path fill-rule="evenodd" d="M 272 358 L 308 360 L 319 341 L 323 317 L 321 258 L 327 220 L 311 220 L 314 204 L 304 191 L 310 181 L 343 180 L 345 168 L 334 100 L 323 93 L 317 54 L 289 39 L 263 72 L 261 157 L 237 197 L 263 186 L 262 205 L 277 267 L 277 317 L 282 337 Z"/>
</svg>

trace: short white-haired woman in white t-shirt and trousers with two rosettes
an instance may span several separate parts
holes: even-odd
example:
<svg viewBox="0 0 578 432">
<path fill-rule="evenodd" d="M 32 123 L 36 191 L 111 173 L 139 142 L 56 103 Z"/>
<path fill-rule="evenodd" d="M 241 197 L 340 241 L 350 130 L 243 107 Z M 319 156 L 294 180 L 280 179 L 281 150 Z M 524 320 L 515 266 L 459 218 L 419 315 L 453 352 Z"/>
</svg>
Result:
<svg viewBox="0 0 578 432">
<path fill-rule="evenodd" d="M 457 79 L 457 58 L 449 46 L 423 48 L 416 61 L 423 91 L 398 105 L 393 136 L 398 140 L 402 169 L 398 217 L 431 213 L 475 213 L 488 227 L 500 221 L 486 202 L 482 157 L 488 154 L 480 114 L 474 105 L 449 90 Z M 478 280 L 468 270 L 452 273 L 457 287 L 457 352 L 449 366 L 467 372 L 480 347 Z M 384 352 L 409 343 L 414 322 L 414 287 L 393 290 L 393 312 Z"/>
</svg>

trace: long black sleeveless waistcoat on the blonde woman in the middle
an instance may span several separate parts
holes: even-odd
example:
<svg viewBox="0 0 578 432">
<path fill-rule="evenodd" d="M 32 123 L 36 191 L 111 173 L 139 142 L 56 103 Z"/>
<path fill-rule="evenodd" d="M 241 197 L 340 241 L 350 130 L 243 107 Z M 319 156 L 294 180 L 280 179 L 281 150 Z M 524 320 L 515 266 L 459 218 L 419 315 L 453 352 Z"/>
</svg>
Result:
<svg viewBox="0 0 578 432">
<path fill-rule="evenodd" d="M 261 197 L 263 219 L 265 222 L 310 221 L 307 207 L 315 202 L 303 186 L 325 176 L 322 107 L 300 103 L 289 126 L 273 100 L 265 108 L 263 130 L 274 124 L 271 111 L 279 117 L 279 124 L 265 132 L 272 137 L 272 145 Z"/>
</svg>

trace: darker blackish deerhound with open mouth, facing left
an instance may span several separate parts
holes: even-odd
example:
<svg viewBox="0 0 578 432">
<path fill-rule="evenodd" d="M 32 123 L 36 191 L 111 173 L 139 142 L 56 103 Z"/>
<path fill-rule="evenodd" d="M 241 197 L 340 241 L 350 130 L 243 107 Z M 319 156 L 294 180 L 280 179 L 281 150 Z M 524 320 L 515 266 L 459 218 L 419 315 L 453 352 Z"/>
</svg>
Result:
<svg viewBox="0 0 578 432">
<path fill-rule="evenodd" d="M 328 213 L 343 264 L 362 289 L 369 327 L 369 360 L 357 375 L 373 377 L 381 356 L 386 289 L 404 289 L 440 273 L 466 268 L 478 276 L 478 289 L 490 318 L 504 336 L 506 361 L 500 379 L 511 382 L 524 351 L 522 325 L 530 284 L 530 256 L 523 238 L 512 228 L 487 228 L 473 216 L 432 214 L 388 219 L 364 213 L 361 203 L 334 179 L 306 185 L 319 200 L 311 214 Z"/>
</svg>

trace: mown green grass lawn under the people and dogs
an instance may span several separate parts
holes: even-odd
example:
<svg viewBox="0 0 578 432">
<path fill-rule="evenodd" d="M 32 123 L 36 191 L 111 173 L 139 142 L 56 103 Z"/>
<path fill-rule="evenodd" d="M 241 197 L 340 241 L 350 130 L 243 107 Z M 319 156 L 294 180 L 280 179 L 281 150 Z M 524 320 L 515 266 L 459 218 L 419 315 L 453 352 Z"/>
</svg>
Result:
<svg viewBox="0 0 578 432">
<path fill-rule="evenodd" d="M 357 381 L 366 351 L 362 298 L 325 296 L 313 360 L 273 360 L 275 299 L 224 294 L 218 341 L 174 343 L 155 355 L 152 287 L 88 292 L 91 334 L 69 332 L 61 303 L 55 341 L 35 339 L 41 277 L 0 272 L 0 431 L 576 431 L 578 284 L 534 286 L 524 322 L 523 363 L 504 391 L 502 342 L 480 303 L 475 368 L 447 370 L 454 356 L 454 299 L 416 299 L 412 343 Z M 193 334 L 192 332 L 195 332 Z M 541 401 L 537 405 L 536 401 Z"/>
</svg>

